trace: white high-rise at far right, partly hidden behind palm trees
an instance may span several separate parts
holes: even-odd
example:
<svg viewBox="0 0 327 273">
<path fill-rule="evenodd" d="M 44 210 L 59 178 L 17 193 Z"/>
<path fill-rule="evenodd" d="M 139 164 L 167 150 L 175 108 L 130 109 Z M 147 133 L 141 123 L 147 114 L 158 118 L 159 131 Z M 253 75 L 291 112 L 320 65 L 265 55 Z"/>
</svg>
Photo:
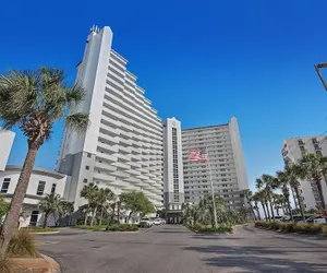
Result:
<svg viewBox="0 0 327 273">
<path fill-rule="evenodd" d="M 281 154 L 286 164 L 300 161 L 305 154 L 318 154 L 327 156 L 327 136 L 305 136 L 287 139 L 283 142 Z M 322 182 L 325 202 L 327 203 L 326 182 Z M 295 197 L 295 192 L 292 192 Z M 322 205 L 317 187 L 314 182 L 300 180 L 300 194 L 305 210 L 316 210 Z M 294 198 L 295 209 L 299 209 L 298 199 Z"/>
</svg>

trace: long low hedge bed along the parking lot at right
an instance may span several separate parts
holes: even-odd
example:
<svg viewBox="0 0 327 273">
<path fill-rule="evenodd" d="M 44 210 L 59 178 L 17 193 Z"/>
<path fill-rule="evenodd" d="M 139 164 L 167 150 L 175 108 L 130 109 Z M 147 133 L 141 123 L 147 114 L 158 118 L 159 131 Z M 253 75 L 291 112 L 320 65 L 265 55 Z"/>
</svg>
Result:
<svg viewBox="0 0 327 273">
<path fill-rule="evenodd" d="M 255 222 L 257 228 L 299 234 L 322 234 L 327 236 L 327 225 L 299 222 Z"/>
</svg>

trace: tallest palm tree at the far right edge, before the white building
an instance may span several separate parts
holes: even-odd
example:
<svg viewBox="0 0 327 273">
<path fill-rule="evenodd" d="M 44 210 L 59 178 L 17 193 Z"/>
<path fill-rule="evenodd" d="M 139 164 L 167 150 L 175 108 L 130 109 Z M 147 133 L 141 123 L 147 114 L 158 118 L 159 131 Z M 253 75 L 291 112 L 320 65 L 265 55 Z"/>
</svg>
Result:
<svg viewBox="0 0 327 273">
<path fill-rule="evenodd" d="M 324 199 L 322 180 L 324 179 L 324 171 L 326 169 L 326 159 L 317 154 L 306 154 L 299 162 L 299 176 L 301 179 L 308 179 L 317 187 L 322 209 L 326 210 L 326 203 Z"/>
</svg>

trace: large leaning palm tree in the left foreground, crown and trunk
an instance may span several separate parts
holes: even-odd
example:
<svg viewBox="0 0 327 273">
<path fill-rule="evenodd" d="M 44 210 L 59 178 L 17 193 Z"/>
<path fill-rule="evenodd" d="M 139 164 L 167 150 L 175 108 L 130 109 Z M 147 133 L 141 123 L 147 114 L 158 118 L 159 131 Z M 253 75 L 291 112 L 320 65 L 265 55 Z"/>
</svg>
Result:
<svg viewBox="0 0 327 273">
<path fill-rule="evenodd" d="M 37 151 L 49 140 L 53 123 L 62 118 L 66 129 L 85 131 L 88 116 L 77 111 L 84 90 L 68 86 L 64 73 L 56 68 L 36 71 L 11 70 L 0 74 L 0 120 L 4 129 L 17 127 L 27 138 L 28 151 L 0 234 L 4 254 L 19 222 Z"/>
</svg>

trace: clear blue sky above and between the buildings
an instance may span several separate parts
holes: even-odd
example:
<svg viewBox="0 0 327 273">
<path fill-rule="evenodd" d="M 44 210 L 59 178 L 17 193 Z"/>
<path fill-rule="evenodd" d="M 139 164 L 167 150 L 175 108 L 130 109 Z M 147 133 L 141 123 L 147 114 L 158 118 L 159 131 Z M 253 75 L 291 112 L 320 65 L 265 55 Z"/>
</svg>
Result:
<svg viewBox="0 0 327 273">
<path fill-rule="evenodd" d="M 58 66 L 73 82 L 89 27 L 109 25 L 161 118 L 184 128 L 238 118 L 253 185 L 282 168 L 284 139 L 327 131 L 327 93 L 313 69 L 327 60 L 326 9 L 326 0 L 4 1 L 0 73 Z M 38 167 L 55 167 L 61 124 L 55 131 Z M 10 164 L 25 153 L 17 132 Z"/>
</svg>

